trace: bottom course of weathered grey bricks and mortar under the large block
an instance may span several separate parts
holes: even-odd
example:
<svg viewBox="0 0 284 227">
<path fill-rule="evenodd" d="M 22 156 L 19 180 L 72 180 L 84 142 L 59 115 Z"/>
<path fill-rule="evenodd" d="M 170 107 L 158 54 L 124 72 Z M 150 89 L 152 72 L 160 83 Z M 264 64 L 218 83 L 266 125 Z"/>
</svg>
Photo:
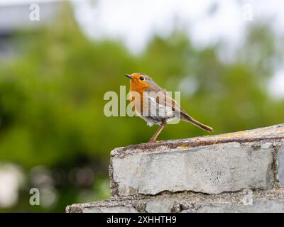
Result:
<svg viewBox="0 0 284 227">
<path fill-rule="evenodd" d="M 244 192 L 202 194 L 182 192 L 146 196 L 141 199 L 109 199 L 86 204 L 67 206 L 67 212 L 284 212 L 284 189 L 268 189 L 252 192 L 251 204 L 247 204 Z"/>
</svg>

